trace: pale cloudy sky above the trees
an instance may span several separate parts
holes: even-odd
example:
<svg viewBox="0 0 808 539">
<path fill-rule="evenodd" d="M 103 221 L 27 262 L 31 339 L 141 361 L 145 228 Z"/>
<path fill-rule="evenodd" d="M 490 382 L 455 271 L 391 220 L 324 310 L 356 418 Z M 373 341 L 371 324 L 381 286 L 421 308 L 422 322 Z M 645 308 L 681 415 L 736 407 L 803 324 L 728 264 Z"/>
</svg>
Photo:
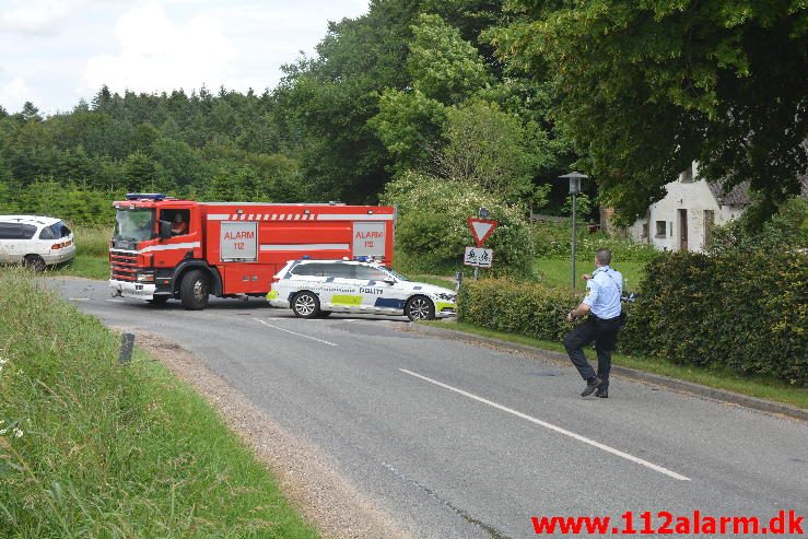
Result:
<svg viewBox="0 0 808 539">
<path fill-rule="evenodd" d="M 328 21 L 368 0 L 0 0 L 0 106 L 40 114 L 114 92 L 204 85 L 261 93 L 301 51 L 314 55 Z"/>
</svg>

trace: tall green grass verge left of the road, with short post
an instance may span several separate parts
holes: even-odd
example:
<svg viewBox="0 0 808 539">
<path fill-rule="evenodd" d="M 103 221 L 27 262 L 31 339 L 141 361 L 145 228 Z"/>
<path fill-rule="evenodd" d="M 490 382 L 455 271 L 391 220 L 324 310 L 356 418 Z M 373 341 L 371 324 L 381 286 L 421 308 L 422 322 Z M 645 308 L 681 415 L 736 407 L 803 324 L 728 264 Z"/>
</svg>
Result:
<svg viewBox="0 0 808 539">
<path fill-rule="evenodd" d="M 0 271 L 0 537 L 317 537 L 219 415 L 22 270 Z"/>
</svg>

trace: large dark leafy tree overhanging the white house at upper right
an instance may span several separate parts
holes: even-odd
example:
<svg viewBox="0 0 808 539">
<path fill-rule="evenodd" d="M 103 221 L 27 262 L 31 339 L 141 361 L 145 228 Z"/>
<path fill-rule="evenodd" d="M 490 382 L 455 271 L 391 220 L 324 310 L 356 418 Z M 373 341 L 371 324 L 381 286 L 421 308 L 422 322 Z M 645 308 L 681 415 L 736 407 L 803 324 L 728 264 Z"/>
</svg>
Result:
<svg viewBox="0 0 808 539">
<path fill-rule="evenodd" d="M 560 97 L 558 116 L 623 219 L 692 161 L 751 180 L 761 215 L 808 169 L 803 1 L 514 0 L 503 58 Z"/>
</svg>

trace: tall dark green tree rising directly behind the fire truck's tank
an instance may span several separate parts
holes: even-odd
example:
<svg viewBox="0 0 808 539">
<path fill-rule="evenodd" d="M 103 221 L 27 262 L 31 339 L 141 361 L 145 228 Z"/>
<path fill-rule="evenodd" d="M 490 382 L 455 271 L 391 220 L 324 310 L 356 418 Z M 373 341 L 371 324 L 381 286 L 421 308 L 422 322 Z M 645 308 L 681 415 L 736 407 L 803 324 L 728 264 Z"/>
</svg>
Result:
<svg viewBox="0 0 808 539">
<path fill-rule="evenodd" d="M 301 138 L 303 176 L 315 199 L 376 199 L 390 156 L 367 120 L 379 93 L 408 83 L 405 61 L 419 0 L 373 0 L 358 19 L 329 25 L 317 58 L 286 67 L 276 91 L 290 130 Z"/>
</svg>

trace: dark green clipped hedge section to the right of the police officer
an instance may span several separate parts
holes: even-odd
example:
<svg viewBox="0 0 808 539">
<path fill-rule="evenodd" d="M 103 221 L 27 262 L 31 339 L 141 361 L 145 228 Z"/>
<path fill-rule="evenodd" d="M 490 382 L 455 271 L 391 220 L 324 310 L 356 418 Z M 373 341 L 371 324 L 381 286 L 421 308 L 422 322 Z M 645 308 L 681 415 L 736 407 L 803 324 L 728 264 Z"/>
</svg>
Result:
<svg viewBox="0 0 808 539">
<path fill-rule="evenodd" d="M 646 268 L 621 347 L 805 386 L 806 258 L 796 249 L 661 256 Z"/>
</svg>

